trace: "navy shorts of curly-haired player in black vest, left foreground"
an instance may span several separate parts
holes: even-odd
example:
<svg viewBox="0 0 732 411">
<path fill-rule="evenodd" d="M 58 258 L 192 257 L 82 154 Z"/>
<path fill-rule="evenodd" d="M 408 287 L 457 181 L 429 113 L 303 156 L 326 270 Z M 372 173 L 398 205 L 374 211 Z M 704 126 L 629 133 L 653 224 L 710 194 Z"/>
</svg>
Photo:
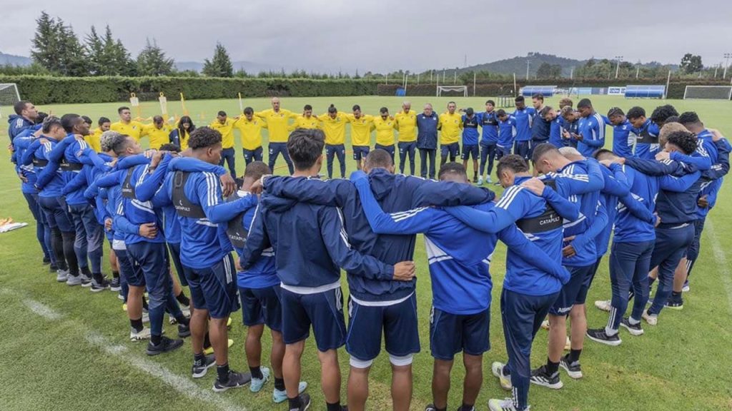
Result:
<svg viewBox="0 0 732 411">
<path fill-rule="evenodd" d="M 234 278 L 234 259 L 226 254 L 223 260 L 209 268 L 183 266 L 193 306 L 209 310 L 212 318 L 226 318 L 239 309 Z"/>
</svg>

